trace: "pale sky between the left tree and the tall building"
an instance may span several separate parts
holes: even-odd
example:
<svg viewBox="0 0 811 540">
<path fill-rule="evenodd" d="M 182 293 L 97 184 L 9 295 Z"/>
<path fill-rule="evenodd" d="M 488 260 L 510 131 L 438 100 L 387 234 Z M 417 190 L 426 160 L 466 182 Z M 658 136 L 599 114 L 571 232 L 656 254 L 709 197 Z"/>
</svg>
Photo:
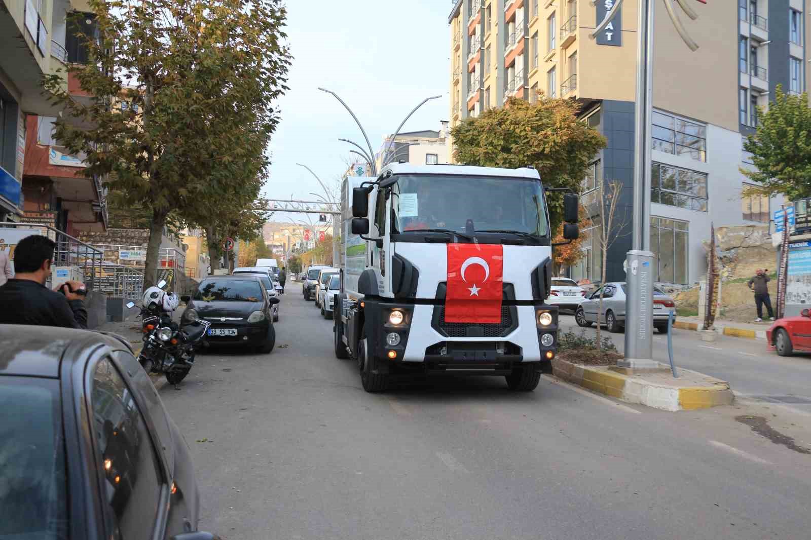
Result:
<svg viewBox="0 0 811 540">
<path fill-rule="evenodd" d="M 338 185 L 353 146 L 363 134 L 327 88 L 357 114 L 377 152 L 386 134 L 428 96 L 402 131 L 438 130 L 448 120 L 450 50 L 448 0 L 287 0 L 290 87 L 277 103 L 281 122 L 272 136 L 271 166 L 264 195 L 313 200 L 323 193 L 307 169 Z M 298 221 L 302 214 L 277 212 L 272 221 Z"/>
</svg>

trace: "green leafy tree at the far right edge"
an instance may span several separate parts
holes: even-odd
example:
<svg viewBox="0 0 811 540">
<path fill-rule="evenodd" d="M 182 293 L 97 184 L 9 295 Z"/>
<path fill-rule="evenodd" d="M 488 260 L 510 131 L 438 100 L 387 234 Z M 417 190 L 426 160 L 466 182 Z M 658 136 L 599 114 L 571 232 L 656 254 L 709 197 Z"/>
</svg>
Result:
<svg viewBox="0 0 811 540">
<path fill-rule="evenodd" d="M 811 197 L 811 109 L 808 96 L 784 94 L 778 84 L 775 101 L 757 109 L 755 135 L 744 142 L 752 152 L 754 170 L 740 172 L 762 186 L 766 195 L 783 194 L 790 200 Z"/>
</svg>

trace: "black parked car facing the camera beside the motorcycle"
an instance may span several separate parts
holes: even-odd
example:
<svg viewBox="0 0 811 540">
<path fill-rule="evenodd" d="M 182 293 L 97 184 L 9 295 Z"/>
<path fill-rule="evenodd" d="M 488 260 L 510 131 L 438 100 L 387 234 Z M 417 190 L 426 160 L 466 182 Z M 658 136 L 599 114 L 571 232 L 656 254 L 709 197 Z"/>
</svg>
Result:
<svg viewBox="0 0 811 540">
<path fill-rule="evenodd" d="M 200 281 L 187 302 L 181 324 L 195 319 L 211 323 L 209 345 L 251 346 L 269 353 L 276 344 L 271 307 L 279 303 L 271 297 L 258 276 L 209 276 Z"/>
</svg>

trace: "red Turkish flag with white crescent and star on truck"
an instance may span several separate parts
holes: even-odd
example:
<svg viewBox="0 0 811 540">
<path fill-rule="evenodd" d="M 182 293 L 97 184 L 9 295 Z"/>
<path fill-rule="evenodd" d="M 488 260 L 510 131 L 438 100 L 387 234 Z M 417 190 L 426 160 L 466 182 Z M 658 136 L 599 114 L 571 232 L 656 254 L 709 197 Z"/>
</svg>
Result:
<svg viewBox="0 0 811 540">
<path fill-rule="evenodd" d="M 503 276 L 501 244 L 448 244 L 445 321 L 500 323 Z"/>
</svg>

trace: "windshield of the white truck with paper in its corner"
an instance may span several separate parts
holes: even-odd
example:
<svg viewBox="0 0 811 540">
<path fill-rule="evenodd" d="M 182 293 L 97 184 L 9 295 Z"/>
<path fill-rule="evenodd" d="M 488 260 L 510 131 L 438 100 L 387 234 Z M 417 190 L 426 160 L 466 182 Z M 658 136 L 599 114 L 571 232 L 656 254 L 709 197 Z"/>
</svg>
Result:
<svg viewBox="0 0 811 540">
<path fill-rule="evenodd" d="M 545 237 L 541 183 L 531 178 L 404 175 L 392 187 L 394 232 L 448 229 Z"/>
</svg>

